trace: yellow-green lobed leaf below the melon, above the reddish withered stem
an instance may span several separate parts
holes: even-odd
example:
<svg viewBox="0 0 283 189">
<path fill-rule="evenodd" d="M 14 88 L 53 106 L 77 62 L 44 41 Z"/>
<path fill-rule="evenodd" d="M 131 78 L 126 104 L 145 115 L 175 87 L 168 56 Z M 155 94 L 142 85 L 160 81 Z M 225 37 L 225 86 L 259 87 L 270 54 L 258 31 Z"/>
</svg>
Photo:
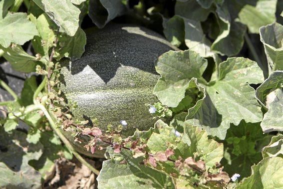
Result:
<svg viewBox="0 0 283 189">
<path fill-rule="evenodd" d="M 212 139 L 208 139 L 206 131 L 192 126 L 188 123 L 182 123 L 184 135 L 180 136 L 180 140 L 175 134 L 175 129 L 169 127 L 163 121 L 158 120 L 155 124 L 156 132 L 152 133 L 147 141 L 147 147 L 150 152 L 165 152 L 168 148 L 167 143 L 177 147 L 172 159 L 178 160 L 179 156 L 183 159 L 194 157 L 194 154 L 202 156 L 206 163 L 206 168 L 212 168 L 215 163 L 220 163 L 223 158 L 223 144 L 217 143 Z M 168 162 L 170 164 L 172 162 Z M 167 168 L 168 169 L 168 168 Z M 170 171 L 163 169 L 170 174 Z"/>
</svg>

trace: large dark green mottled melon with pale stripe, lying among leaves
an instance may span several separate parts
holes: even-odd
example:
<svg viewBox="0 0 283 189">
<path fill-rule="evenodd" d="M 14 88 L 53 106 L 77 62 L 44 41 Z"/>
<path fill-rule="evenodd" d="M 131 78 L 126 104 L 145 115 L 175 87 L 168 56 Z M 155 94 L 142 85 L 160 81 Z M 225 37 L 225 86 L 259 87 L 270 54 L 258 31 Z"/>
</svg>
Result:
<svg viewBox="0 0 283 189">
<path fill-rule="evenodd" d="M 78 105 L 73 115 L 79 120 L 96 118 L 102 131 L 108 124 L 116 126 L 125 120 L 124 137 L 136 128 L 148 130 L 154 120 L 145 104 L 157 102 L 153 88 L 160 77 L 154 62 L 176 48 L 154 31 L 135 25 L 108 24 L 87 30 L 86 36 L 83 56 L 62 63 L 61 69 L 61 91 Z M 73 142 L 70 133 L 64 135 Z M 85 136 L 83 143 L 87 141 Z M 80 153 L 92 156 L 82 148 L 84 144 L 73 144 Z"/>
</svg>

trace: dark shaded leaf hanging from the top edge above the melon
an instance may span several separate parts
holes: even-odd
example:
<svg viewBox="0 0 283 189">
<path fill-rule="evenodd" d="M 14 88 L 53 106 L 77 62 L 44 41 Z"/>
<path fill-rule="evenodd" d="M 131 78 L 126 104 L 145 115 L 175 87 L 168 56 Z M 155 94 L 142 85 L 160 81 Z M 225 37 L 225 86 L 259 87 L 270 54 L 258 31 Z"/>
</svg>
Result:
<svg viewBox="0 0 283 189">
<path fill-rule="evenodd" d="M 104 27 L 109 21 L 124 14 L 125 4 L 121 0 L 90 0 L 89 17 L 98 28 Z"/>
</svg>

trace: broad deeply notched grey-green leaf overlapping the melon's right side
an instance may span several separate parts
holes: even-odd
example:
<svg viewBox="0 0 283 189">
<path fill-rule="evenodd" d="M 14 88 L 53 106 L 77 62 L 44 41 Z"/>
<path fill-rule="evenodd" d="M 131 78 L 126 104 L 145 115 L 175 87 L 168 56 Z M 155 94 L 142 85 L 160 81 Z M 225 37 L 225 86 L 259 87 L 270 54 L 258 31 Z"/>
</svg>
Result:
<svg viewBox="0 0 283 189">
<path fill-rule="evenodd" d="M 187 122 L 204 128 L 220 139 L 225 138 L 230 123 L 238 125 L 242 119 L 252 123 L 262 120 L 255 90 L 249 85 L 263 81 L 262 71 L 256 62 L 245 58 L 229 58 L 219 64 L 217 81 L 210 83 L 202 77 L 202 70 L 206 66 L 206 59 L 194 51 L 165 53 L 156 64 L 156 71 L 162 77 L 155 86 L 154 94 L 163 104 L 176 107 L 184 98 L 185 90 L 190 88 L 190 80 L 199 79 L 205 84 L 202 86 L 205 86 L 206 96 L 197 102 L 194 111 L 188 110 Z M 197 83 L 195 85 L 198 86 Z"/>
</svg>

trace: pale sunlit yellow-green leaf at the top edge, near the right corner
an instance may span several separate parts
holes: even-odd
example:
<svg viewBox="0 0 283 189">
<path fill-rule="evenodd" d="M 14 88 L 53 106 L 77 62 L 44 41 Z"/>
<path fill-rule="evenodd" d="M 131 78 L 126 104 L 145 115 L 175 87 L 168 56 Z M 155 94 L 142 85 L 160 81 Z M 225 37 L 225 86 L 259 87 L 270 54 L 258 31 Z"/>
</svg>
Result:
<svg viewBox="0 0 283 189">
<path fill-rule="evenodd" d="M 276 21 L 277 0 L 258 0 L 256 6 L 246 4 L 239 12 L 239 21 L 246 24 L 251 33 L 259 33 L 261 26 Z"/>
</svg>

